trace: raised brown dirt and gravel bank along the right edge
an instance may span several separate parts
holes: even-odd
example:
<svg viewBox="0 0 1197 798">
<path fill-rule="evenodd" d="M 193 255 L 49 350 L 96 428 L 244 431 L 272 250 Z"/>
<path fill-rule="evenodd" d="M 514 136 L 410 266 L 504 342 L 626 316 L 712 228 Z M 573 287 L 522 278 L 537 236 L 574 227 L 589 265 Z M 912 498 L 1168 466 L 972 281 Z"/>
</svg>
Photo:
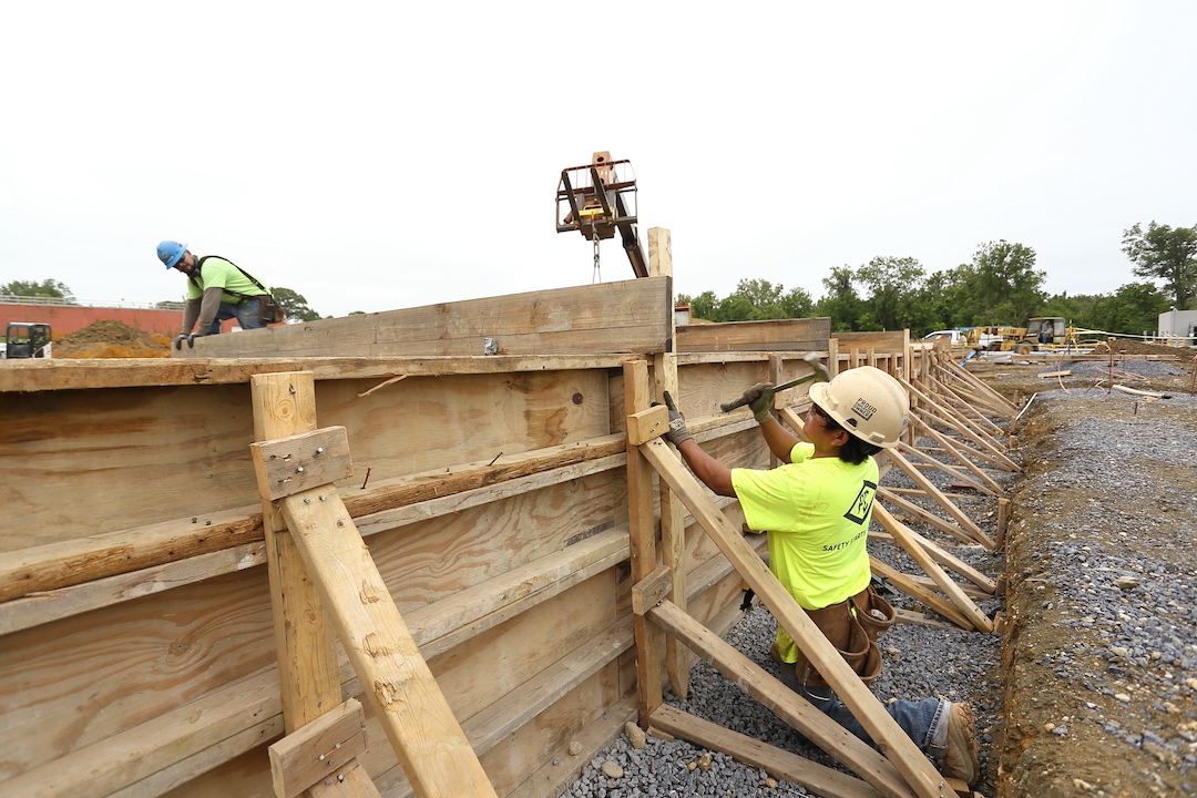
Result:
<svg viewBox="0 0 1197 798">
<path fill-rule="evenodd" d="M 1015 435 L 998 798 L 1197 794 L 1197 352 L 1113 346 L 1177 357 L 1113 366 L 1165 396 L 1111 390 L 1108 364 L 977 370 L 1041 394 Z"/>
</svg>

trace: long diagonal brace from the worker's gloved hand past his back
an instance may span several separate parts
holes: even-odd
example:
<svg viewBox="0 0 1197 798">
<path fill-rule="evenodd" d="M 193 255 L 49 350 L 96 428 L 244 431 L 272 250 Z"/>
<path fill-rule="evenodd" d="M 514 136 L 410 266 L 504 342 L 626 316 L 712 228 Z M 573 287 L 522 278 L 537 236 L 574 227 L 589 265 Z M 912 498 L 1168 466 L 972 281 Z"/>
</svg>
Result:
<svg viewBox="0 0 1197 798">
<path fill-rule="evenodd" d="M 836 694 L 859 720 L 869 736 L 881 747 L 886 757 L 901 772 L 916 794 L 922 798 L 941 796 L 937 785 L 940 775 L 928 759 L 911 742 L 893 718 L 881 707 L 877 699 L 852 672 L 852 669 L 836 651 L 836 647 L 802 611 L 777 577 L 761 562 L 727 517 L 711 502 L 706 491 L 694 476 L 673 456 L 660 439 L 639 447 L 662 479 L 667 480 L 691 513 L 711 536 L 723 555 L 735 565 L 736 571 L 752 585 L 757 596 L 773 613 L 802 652 L 814 663 L 819 672 L 832 686 Z"/>
</svg>

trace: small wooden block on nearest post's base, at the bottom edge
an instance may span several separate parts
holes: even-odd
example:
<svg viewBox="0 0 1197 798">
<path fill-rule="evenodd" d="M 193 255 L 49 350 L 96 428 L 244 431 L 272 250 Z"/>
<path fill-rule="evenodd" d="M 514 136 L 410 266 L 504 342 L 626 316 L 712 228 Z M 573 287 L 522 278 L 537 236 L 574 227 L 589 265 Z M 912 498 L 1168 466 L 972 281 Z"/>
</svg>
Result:
<svg viewBox="0 0 1197 798">
<path fill-rule="evenodd" d="M 278 798 L 293 798 L 326 779 L 330 785 L 333 781 L 345 784 L 340 768 L 366 750 L 361 705 L 350 699 L 274 743 L 269 750 Z"/>
</svg>

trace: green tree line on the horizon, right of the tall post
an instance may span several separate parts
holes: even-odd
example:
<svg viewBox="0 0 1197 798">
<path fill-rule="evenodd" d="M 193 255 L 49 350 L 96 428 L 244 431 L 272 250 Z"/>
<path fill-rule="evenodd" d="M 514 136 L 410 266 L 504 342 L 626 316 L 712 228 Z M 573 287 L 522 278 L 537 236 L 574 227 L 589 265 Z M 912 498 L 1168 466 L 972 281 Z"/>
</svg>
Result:
<svg viewBox="0 0 1197 798">
<path fill-rule="evenodd" d="M 819 299 L 802 288 L 786 291 L 755 279 L 741 280 L 727 297 L 704 291 L 678 299 L 689 303 L 694 318 L 710 322 L 828 317 L 837 333 L 909 328 L 915 335 L 984 324 L 1019 327 L 1034 316 L 1063 316 L 1076 327 L 1137 335 L 1154 331 L 1159 315 L 1169 307 L 1197 306 L 1197 225 L 1136 224 L 1123 233 L 1123 252 L 1130 274 L 1144 280 L 1110 294 L 1049 296 L 1047 274 L 1035 268 L 1035 251 L 997 240 L 978 246 L 968 263 L 932 274 L 912 257 L 834 267 L 822 279 Z"/>
</svg>

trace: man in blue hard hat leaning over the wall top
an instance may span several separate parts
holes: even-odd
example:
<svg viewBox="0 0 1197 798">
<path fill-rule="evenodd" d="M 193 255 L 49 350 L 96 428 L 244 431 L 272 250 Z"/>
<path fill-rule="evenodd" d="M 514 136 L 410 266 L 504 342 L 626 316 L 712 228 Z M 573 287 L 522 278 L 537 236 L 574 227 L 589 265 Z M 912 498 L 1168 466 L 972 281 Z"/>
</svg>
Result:
<svg viewBox="0 0 1197 798">
<path fill-rule="evenodd" d="M 183 341 L 195 346 L 195 339 L 218 334 L 220 322 L 229 318 L 236 318 L 243 330 L 282 321 L 266 284 L 227 258 L 198 258 L 187 244 L 164 240 L 158 244 L 158 260 L 187 275 L 187 307 L 176 349 Z"/>
</svg>

